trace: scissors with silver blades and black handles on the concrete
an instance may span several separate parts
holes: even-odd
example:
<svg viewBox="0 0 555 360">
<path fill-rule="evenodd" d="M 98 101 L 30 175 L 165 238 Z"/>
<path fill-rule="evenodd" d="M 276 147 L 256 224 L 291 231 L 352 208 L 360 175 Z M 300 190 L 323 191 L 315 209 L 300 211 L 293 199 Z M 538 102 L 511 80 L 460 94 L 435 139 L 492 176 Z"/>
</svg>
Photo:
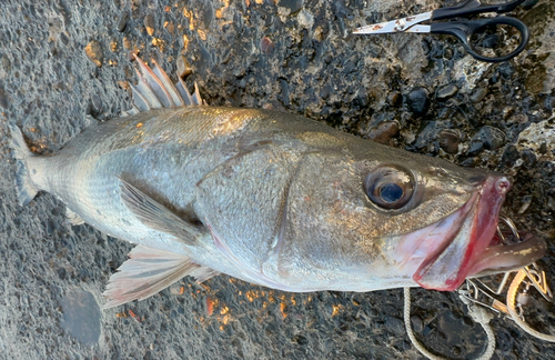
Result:
<svg viewBox="0 0 555 360">
<path fill-rule="evenodd" d="M 453 18 L 470 17 L 485 12 L 505 13 L 513 11 L 524 1 L 526 0 L 514 0 L 498 4 L 482 4 L 478 0 L 467 0 L 455 7 L 441 8 L 434 11 L 420 13 L 413 17 L 362 27 L 356 29 L 353 33 L 356 34 L 387 33 L 387 32 L 446 33 L 458 38 L 463 42 L 466 52 L 468 52 L 475 59 L 486 62 L 502 62 L 502 61 L 507 61 L 516 57 L 518 53 L 521 53 L 529 40 L 528 28 L 524 22 L 515 18 L 495 17 L 495 18 L 480 19 L 480 20 L 432 22 L 432 24 L 417 24 L 417 23 L 426 20 L 433 21 L 433 20 L 445 20 Z M 480 48 L 490 50 L 490 48 L 492 48 L 491 44 L 494 44 L 497 40 L 497 38 L 494 34 L 491 34 L 490 31 L 493 28 L 507 29 L 506 27 L 514 28 L 521 33 L 518 40 L 519 43 L 516 47 L 516 49 L 514 49 L 509 53 L 502 53 L 501 56 L 482 54 Z M 482 41 L 481 47 L 476 46 L 478 41 Z"/>
</svg>

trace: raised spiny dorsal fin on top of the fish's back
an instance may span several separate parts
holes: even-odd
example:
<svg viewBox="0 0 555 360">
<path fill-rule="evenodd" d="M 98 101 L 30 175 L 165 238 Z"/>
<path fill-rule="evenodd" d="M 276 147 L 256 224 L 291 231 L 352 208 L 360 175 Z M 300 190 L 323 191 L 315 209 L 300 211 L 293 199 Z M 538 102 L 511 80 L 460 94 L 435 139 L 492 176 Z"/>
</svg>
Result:
<svg viewBox="0 0 555 360">
<path fill-rule="evenodd" d="M 151 69 L 137 54 L 133 56 L 140 69 L 140 71 L 135 69 L 139 79 L 138 84 L 131 84 L 134 109 L 149 111 L 160 107 L 173 108 L 206 104 L 201 98 L 196 83 L 194 83 L 194 92 L 191 96 L 181 78 L 178 77 L 178 83 L 173 84 L 164 70 L 154 60 L 154 69 Z M 122 116 L 135 113 L 132 110 L 123 111 Z"/>
</svg>

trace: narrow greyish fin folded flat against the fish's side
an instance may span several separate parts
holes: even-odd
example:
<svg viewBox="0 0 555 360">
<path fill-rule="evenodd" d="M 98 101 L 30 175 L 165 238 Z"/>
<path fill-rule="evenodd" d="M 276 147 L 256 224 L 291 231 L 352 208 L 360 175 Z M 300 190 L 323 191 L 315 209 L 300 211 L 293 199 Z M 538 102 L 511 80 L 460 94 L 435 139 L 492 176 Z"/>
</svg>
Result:
<svg viewBox="0 0 555 360">
<path fill-rule="evenodd" d="M 199 246 L 203 236 L 198 227 L 186 222 L 163 204 L 151 199 L 129 182 L 121 181 L 121 200 L 147 227 L 169 233 L 188 246 Z"/>
</svg>

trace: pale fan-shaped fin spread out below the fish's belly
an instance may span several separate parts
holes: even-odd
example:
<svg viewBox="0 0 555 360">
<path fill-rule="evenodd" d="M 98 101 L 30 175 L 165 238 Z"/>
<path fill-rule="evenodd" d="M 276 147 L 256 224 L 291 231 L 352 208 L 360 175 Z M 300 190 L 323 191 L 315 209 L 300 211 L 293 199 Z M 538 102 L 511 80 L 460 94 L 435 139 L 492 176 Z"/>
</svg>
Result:
<svg viewBox="0 0 555 360">
<path fill-rule="evenodd" d="M 185 276 L 204 281 L 219 273 L 195 264 L 185 256 L 145 246 L 135 247 L 129 258 L 110 277 L 103 293 L 108 298 L 104 309 L 147 299 Z"/>
</svg>

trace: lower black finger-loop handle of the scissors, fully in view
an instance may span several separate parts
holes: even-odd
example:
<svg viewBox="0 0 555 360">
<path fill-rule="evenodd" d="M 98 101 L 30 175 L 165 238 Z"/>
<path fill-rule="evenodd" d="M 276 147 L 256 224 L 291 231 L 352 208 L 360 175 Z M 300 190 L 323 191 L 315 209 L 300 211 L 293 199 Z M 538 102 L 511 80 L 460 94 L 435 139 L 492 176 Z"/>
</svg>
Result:
<svg viewBox="0 0 555 360">
<path fill-rule="evenodd" d="M 471 42 L 472 36 L 475 33 L 481 33 L 482 29 L 488 26 L 500 26 L 506 24 L 515 28 L 521 33 L 521 43 L 518 47 L 508 54 L 502 57 L 484 57 L 477 53 Z M 511 17 L 497 17 L 491 19 L 482 20 L 468 20 L 468 21 L 451 21 L 451 22 L 436 22 L 432 23 L 430 27 L 430 32 L 435 33 L 447 33 L 457 37 L 462 42 L 466 51 L 476 60 L 485 62 L 503 62 L 507 61 L 517 54 L 519 54 L 529 40 L 528 27 L 521 20 Z"/>
</svg>

